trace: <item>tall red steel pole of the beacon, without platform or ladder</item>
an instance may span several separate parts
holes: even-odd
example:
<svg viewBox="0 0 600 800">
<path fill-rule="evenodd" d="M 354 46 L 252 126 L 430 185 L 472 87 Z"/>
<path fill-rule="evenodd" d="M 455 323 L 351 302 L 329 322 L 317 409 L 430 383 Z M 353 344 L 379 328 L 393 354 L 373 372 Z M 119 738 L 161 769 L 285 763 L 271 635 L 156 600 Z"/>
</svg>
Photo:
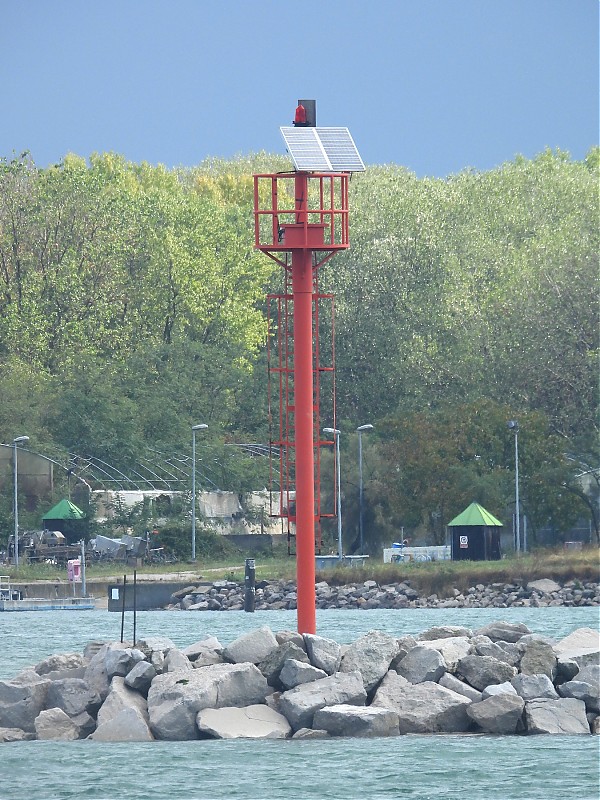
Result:
<svg viewBox="0 0 600 800">
<path fill-rule="evenodd" d="M 307 222 L 308 178 L 295 180 L 296 222 Z M 296 584 L 298 632 L 316 633 L 312 250 L 292 250 L 296 432 Z"/>
</svg>

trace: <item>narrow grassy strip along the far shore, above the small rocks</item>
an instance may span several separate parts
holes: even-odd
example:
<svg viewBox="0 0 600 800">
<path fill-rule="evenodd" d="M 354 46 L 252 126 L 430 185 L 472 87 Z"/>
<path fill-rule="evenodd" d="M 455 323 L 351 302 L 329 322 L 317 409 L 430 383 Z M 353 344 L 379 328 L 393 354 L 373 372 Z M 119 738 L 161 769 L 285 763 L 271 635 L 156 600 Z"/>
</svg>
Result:
<svg viewBox="0 0 600 800">
<path fill-rule="evenodd" d="M 526 584 L 540 578 L 552 578 L 559 583 L 569 580 L 598 581 L 599 555 L 597 547 L 581 551 L 536 550 L 520 557 L 510 556 L 501 561 L 431 561 L 425 563 L 381 564 L 367 562 L 360 568 L 337 568 L 317 573 L 317 580 L 326 580 L 332 585 L 374 580 L 379 584 L 409 582 L 420 594 L 445 594 L 456 588 L 461 592 L 478 583 Z M 66 580 L 66 569 L 51 564 L 1 567 L 4 575 L 13 581 Z M 102 580 L 125 573 L 131 575 L 133 568 L 123 564 L 101 564 L 88 567 L 86 576 L 90 581 Z M 138 568 L 144 575 L 191 573 L 194 580 L 228 579 L 244 580 L 244 556 L 231 557 L 226 562 L 202 561 L 196 563 L 153 564 Z M 295 580 L 296 562 L 288 556 L 259 557 L 256 559 L 257 580 Z M 186 576 L 187 579 L 187 576 Z"/>
</svg>

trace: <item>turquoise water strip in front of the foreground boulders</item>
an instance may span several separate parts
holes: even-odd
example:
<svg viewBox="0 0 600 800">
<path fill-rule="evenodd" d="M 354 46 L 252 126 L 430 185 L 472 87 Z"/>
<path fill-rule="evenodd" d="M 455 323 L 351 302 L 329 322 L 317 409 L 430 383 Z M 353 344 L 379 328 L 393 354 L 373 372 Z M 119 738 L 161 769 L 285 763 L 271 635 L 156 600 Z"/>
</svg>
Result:
<svg viewBox="0 0 600 800">
<path fill-rule="evenodd" d="M 2 800 L 598 800 L 598 739 L 0 745 Z"/>
</svg>

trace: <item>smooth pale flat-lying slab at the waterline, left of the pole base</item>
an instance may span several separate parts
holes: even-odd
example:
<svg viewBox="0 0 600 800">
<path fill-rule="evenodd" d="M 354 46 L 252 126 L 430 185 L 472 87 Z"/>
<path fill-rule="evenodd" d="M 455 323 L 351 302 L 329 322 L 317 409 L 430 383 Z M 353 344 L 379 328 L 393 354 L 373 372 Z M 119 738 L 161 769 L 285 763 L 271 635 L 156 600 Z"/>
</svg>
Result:
<svg viewBox="0 0 600 800">
<path fill-rule="evenodd" d="M 287 739 L 287 719 L 265 705 L 246 708 L 205 708 L 196 716 L 200 733 L 215 739 Z"/>
</svg>

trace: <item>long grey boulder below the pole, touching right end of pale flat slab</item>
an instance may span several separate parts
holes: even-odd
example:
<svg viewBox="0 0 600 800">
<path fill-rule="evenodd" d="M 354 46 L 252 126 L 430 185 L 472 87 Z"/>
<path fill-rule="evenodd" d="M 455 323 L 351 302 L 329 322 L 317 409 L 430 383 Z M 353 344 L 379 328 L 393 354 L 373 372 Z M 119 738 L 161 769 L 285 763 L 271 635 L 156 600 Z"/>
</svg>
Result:
<svg viewBox="0 0 600 800">
<path fill-rule="evenodd" d="M 360 672 L 336 672 L 283 692 L 279 698 L 279 710 L 297 731 L 300 728 L 312 728 L 315 711 L 320 708 L 343 703 L 362 706 L 366 699 Z"/>
</svg>

